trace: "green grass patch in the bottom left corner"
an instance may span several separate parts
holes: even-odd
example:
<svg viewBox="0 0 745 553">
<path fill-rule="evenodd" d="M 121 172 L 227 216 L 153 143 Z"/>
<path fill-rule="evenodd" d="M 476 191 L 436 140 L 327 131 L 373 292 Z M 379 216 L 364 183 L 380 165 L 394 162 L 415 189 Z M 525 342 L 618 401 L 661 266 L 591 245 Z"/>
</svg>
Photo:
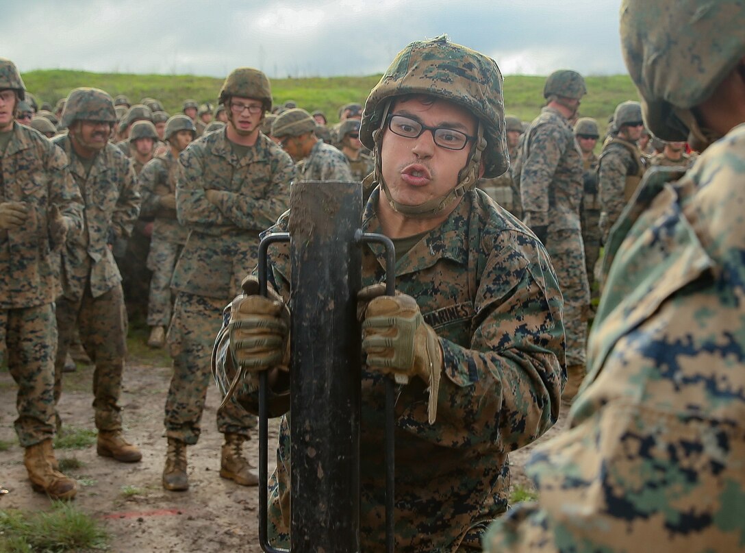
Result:
<svg viewBox="0 0 745 553">
<path fill-rule="evenodd" d="M 107 549 L 109 537 L 88 514 L 69 502 L 51 511 L 0 510 L 0 553 L 80 552 Z"/>
</svg>

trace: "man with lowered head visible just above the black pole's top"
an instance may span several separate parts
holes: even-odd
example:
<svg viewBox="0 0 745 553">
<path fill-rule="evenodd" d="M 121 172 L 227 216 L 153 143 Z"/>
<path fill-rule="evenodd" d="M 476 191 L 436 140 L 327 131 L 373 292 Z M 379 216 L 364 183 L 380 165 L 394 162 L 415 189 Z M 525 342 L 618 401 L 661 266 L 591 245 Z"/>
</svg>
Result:
<svg viewBox="0 0 745 553">
<path fill-rule="evenodd" d="M 315 119 L 305 110 L 293 107 L 272 123 L 272 137 L 297 163 L 298 180 L 352 181 L 346 156 L 319 139 Z"/>
</svg>

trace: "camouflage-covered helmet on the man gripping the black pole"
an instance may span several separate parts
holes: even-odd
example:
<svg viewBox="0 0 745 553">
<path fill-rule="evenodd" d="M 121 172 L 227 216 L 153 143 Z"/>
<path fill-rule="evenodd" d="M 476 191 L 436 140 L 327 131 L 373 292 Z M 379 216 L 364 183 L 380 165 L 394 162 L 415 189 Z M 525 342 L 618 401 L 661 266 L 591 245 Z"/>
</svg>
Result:
<svg viewBox="0 0 745 553">
<path fill-rule="evenodd" d="M 360 139 L 367 148 L 375 148 L 373 133 L 384 125 L 390 100 L 407 94 L 437 96 L 473 113 L 486 139 L 485 144 L 479 140 L 476 145 L 483 152 L 484 177 L 498 177 L 507 171 L 510 158 L 504 133 L 502 75 L 494 60 L 450 42 L 446 35 L 411 42 L 365 102 Z M 470 188 L 475 179 L 469 180 L 474 180 L 466 185 Z"/>
</svg>

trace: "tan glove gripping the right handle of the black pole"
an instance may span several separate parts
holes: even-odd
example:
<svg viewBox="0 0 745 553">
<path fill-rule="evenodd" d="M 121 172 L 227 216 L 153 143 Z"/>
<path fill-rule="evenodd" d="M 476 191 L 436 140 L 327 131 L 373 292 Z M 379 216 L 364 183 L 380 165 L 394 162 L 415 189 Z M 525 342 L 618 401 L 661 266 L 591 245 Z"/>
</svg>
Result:
<svg viewBox="0 0 745 553">
<path fill-rule="evenodd" d="M 431 326 L 424 322 L 416 300 L 406 294 L 377 295 L 379 285 L 369 286 L 358 294 L 362 320 L 362 349 L 367 366 L 381 373 L 393 374 L 396 382 L 405 384 L 419 376 L 429 388 L 429 423 L 437 416 L 437 394 L 443 373 L 443 350 Z M 375 296 L 369 299 L 371 296 Z"/>
</svg>

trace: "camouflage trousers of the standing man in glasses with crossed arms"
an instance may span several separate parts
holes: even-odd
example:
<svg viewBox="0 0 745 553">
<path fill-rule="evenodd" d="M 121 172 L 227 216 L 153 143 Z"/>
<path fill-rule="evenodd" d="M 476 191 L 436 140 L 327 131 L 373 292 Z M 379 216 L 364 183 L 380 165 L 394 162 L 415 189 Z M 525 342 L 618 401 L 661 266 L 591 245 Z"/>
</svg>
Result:
<svg viewBox="0 0 745 553">
<path fill-rule="evenodd" d="M 168 348 L 174 376 L 165 400 L 165 434 L 184 443 L 197 443 L 207 388 L 212 382 L 209 361 L 223 323 L 226 300 L 179 292 L 168 329 Z M 218 409 L 218 430 L 250 437 L 256 417 L 229 402 Z"/>
</svg>

